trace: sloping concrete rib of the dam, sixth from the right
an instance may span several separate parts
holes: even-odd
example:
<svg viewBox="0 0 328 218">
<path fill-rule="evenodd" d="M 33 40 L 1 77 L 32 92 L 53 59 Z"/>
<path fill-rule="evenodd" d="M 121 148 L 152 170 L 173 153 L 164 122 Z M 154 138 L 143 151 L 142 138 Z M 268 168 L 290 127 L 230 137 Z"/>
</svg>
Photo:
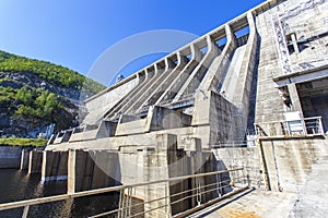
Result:
<svg viewBox="0 0 328 218">
<path fill-rule="evenodd" d="M 125 113 L 136 112 L 139 108 L 148 106 L 147 99 L 152 96 L 157 87 L 163 85 L 169 73 L 174 70 L 175 64 L 169 58 L 165 58 L 165 70 L 150 86 L 145 89 L 143 95 L 141 95 L 133 104 L 126 109 Z"/>
</svg>

